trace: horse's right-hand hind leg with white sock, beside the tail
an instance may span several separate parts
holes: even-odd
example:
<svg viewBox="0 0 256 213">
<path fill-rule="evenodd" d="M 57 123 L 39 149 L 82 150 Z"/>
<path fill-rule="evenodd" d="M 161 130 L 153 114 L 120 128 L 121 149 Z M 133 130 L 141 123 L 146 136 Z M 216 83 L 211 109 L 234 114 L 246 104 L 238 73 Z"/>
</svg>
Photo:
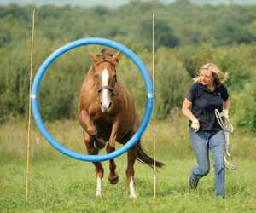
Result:
<svg viewBox="0 0 256 213">
<path fill-rule="evenodd" d="M 133 165 L 135 163 L 136 158 L 137 158 L 137 145 L 134 145 L 127 152 L 128 164 L 127 164 L 127 169 L 126 169 L 126 177 L 127 177 L 128 182 L 129 182 L 129 185 L 130 185 L 130 192 L 131 192 L 130 197 L 131 198 L 137 198 L 136 193 L 135 193 L 135 189 L 134 189 L 134 186 L 133 186 L 133 179 L 134 179 L 134 167 L 133 167 Z"/>
</svg>

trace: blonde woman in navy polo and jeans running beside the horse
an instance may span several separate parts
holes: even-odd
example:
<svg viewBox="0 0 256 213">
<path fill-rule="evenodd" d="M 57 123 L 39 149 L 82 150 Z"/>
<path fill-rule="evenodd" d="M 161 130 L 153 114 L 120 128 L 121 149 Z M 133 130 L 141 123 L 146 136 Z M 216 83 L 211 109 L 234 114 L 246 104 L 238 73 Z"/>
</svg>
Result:
<svg viewBox="0 0 256 213">
<path fill-rule="evenodd" d="M 227 74 L 212 63 L 202 66 L 199 76 L 194 79 L 195 83 L 190 87 L 183 102 L 183 114 L 189 118 L 189 138 L 197 158 L 197 164 L 191 171 L 189 185 L 195 189 L 199 179 L 208 174 L 210 149 L 214 162 L 213 196 L 223 198 L 225 139 L 224 130 L 219 126 L 214 110 L 229 112 L 230 97 L 222 84 L 227 78 Z"/>
</svg>

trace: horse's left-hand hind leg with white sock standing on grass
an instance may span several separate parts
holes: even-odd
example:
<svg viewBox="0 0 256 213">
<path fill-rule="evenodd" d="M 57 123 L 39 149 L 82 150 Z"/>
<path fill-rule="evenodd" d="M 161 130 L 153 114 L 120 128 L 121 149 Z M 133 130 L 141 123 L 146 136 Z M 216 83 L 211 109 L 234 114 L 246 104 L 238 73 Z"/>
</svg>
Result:
<svg viewBox="0 0 256 213">
<path fill-rule="evenodd" d="M 84 143 L 87 148 L 88 154 L 96 155 L 99 153 L 99 150 L 94 146 L 93 139 L 85 131 L 84 131 Z M 104 174 L 104 170 L 101 162 L 93 162 L 93 164 L 95 165 L 95 171 L 97 176 L 96 196 L 102 197 L 102 177 Z"/>
</svg>

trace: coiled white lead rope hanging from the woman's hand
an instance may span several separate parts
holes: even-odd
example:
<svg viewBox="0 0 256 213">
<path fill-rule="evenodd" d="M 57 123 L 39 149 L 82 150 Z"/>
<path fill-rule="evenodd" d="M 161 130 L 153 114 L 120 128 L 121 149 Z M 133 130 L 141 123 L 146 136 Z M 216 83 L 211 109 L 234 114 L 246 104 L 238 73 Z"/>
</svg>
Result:
<svg viewBox="0 0 256 213">
<path fill-rule="evenodd" d="M 233 132 L 233 126 L 230 122 L 230 117 L 227 112 L 218 112 L 218 109 L 215 109 L 215 116 L 218 120 L 218 124 L 221 126 L 221 128 L 224 130 L 225 135 L 225 155 L 224 155 L 224 161 L 226 164 L 230 165 L 230 167 L 225 166 L 227 170 L 236 170 L 236 166 L 233 164 L 230 164 L 230 162 L 227 161 L 226 156 L 229 157 L 231 154 L 229 153 L 229 147 L 230 147 L 230 133 Z"/>
</svg>

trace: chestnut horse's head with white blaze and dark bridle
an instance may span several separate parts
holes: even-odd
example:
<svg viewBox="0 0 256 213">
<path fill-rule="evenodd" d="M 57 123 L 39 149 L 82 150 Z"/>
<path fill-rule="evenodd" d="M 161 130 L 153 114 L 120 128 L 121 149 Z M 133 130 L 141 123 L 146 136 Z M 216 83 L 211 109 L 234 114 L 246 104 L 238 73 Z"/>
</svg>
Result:
<svg viewBox="0 0 256 213">
<path fill-rule="evenodd" d="M 90 57 L 94 60 L 94 80 L 97 93 L 100 96 L 102 112 L 109 112 L 111 109 L 111 98 L 113 89 L 117 83 L 115 66 L 119 61 L 119 52 L 113 54 L 110 49 L 102 49 L 102 55 L 94 55 L 90 52 Z"/>
</svg>

